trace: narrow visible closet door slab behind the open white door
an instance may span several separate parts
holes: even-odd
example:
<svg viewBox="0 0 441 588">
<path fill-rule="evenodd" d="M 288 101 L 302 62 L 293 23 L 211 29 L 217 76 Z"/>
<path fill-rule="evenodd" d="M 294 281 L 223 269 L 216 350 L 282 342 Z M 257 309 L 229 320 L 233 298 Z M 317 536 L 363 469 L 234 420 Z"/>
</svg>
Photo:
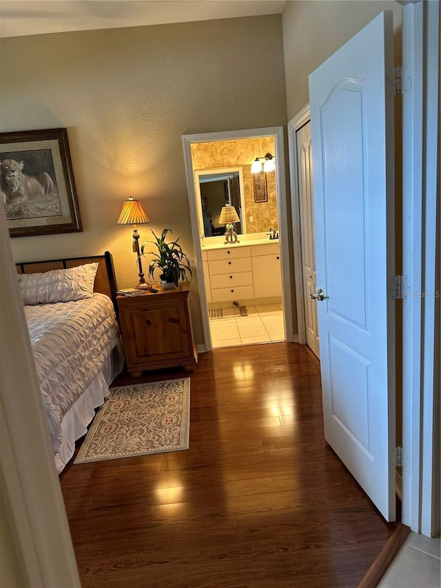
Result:
<svg viewBox="0 0 441 588">
<path fill-rule="evenodd" d="M 316 291 L 316 252 L 314 245 L 314 196 L 312 190 L 311 123 L 296 132 L 298 194 L 300 199 L 300 239 L 302 242 L 302 285 L 305 300 L 306 343 L 320 357 L 317 305 L 311 299 Z"/>
</svg>

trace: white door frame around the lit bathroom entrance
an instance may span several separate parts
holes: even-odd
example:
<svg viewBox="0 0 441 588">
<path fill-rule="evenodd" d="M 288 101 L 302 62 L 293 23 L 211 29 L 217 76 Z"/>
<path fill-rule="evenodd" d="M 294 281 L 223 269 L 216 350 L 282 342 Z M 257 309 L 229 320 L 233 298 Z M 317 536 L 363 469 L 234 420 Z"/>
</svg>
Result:
<svg viewBox="0 0 441 588">
<path fill-rule="evenodd" d="M 205 294 L 205 276 L 203 270 L 201 241 L 199 239 L 199 223 L 196 207 L 196 190 L 194 186 L 194 170 L 191 146 L 193 143 L 209 143 L 212 141 L 237 141 L 239 139 L 256 139 L 272 136 L 276 148 L 276 187 L 279 220 L 280 265 L 282 270 L 283 318 L 285 322 L 286 341 L 294 341 L 294 323 L 291 296 L 291 267 L 289 265 L 289 224 L 287 212 L 287 197 L 285 187 L 285 149 L 283 144 L 283 127 L 266 127 L 246 130 L 220 131 L 209 133 L 184 134 L 182 136 L 185 176 L 190 220 L 192 224 L 194 261 L 198 276 L 199 301 L 201 303 L 202 325 L 204 333 L 205 351 L 212 349 L 212 336 L 209 330 L 208 304 Z"/>
</svg>

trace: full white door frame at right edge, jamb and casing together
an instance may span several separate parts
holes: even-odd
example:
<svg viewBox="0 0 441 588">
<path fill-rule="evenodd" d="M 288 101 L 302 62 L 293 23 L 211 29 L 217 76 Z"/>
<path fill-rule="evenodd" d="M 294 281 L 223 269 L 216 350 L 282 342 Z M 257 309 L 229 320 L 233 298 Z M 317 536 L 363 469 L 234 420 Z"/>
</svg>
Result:
<svg viewBox="0 0 441 588">
<path fill-rule="evenodd" d="M 412 3 L 402 10 L 403 65 L 411 78 L 409 92 L 403 94 L 402 375 L 403 447 L 408 459 L 403 469 L 402 523 L 429 536 L 440 491 L 440 481 L 433 476 L 440 458 L 433 432 L 440 415 L 433 411 L 435 298 L 420 293 L 435 291 L 437 271 L 439 19 L 435 2 Z M 436 524 L 439 529 L 439 521 Z"/>
</svg>

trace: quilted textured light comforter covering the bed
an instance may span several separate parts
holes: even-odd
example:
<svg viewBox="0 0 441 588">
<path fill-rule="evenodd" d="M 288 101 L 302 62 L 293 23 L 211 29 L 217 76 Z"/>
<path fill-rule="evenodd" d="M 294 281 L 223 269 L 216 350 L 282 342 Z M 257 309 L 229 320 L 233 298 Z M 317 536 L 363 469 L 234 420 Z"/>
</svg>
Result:
<svg viewBox="0 0 441 588">
<path fill-rule="evenodd" d="M 32 352 L 54 452 L 60 425 L 119 341 L 110 298 L 25 306 Z"/>
</svg>

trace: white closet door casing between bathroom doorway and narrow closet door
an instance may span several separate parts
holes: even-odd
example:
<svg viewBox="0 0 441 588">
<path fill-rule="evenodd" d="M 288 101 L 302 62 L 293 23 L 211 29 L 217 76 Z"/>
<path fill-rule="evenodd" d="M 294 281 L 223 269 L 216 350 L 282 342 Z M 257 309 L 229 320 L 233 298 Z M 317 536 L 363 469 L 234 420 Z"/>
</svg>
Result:
<svg viewBox="0 0 441 588">
<path fill-rule="evenodd" d="M 303 263 L 301 239 L 300 192 L 298 186 L 298 149 L 296 132 L 310 120 L 309 104 L 288 123 L 289 177 L 291 180 L 291 223 L 294 247 L 294 276 L 296 278 L 296 310 L 298 343 L 306 344 L 305 296 L 303 292 Z"/>
</svg>

